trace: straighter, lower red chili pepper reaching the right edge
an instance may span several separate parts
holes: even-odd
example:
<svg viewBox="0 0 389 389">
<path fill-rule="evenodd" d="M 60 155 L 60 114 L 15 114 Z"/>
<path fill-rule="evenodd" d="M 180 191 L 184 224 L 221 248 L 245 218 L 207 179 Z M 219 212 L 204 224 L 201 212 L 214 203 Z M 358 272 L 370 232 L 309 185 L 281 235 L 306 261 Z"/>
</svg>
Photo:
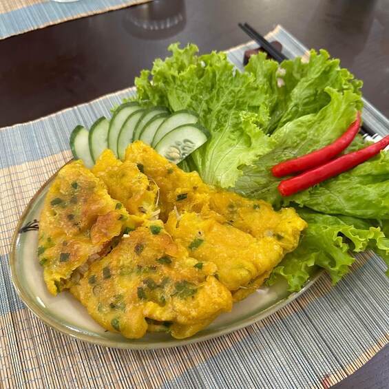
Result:
<svg viewBox="0 0 389 389">
<path fill-rule="evenodd" d="M 319 184 L 319 182 L 328 180 L 328 178 L 352 169 L 373 156 L 376 156 L 379 151 L 385 149 L 388 145 L 389 135 L 364 149 L 344 154 L 344 156 L 340 156 L 323 165 L 304 171 L 302 174 L 288 178 L 287 180 L 280 182 L 278 190 L 282 196 L 291 196 L 294 193 L 308 189 L 313 185 Z"/>
</svg>

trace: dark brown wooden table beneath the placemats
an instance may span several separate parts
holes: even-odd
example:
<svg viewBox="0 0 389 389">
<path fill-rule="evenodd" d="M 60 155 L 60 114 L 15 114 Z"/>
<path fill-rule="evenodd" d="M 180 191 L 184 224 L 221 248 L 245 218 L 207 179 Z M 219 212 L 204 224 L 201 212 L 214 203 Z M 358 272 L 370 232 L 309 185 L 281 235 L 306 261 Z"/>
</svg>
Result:
<svg viewBox="0 0 389 389">
<path fill-rule="evenodd" d="M 389 116 L 386 0 L 155 0 L 0 41 L 0 127 L 132 86 L 171 42 L 193 42 L 201 52 L 244 43 L 238 22 L 262 34 L 280 23 L 308 48 L 325 48 Z M 339 387 L 385 387 L 388 361 L 386 348 Z"/>
</svg>

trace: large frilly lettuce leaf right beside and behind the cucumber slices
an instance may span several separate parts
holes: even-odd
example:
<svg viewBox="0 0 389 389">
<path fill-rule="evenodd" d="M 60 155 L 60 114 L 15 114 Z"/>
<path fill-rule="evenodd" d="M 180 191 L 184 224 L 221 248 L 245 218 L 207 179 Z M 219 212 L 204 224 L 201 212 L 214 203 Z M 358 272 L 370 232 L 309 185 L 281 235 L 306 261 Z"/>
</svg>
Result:
<svg viewBox="0 0 389 389">
<path fill-rule="evenodd" d="M 250 165 L 272 147 L 261 129 L 269 118 L 264 87 L 252 74 L 238 72 L 222 52 L 196 56 L 196 45 L 180 49 L 178 44 L 169 50 L 171 57 L 156 60 L 151 72 L 136 78 L 137 99 L 198 112 L 211 137 L 185 166 L 208 184 L 231 187 L 242 175 L 240 165 Z"/>
</svg>

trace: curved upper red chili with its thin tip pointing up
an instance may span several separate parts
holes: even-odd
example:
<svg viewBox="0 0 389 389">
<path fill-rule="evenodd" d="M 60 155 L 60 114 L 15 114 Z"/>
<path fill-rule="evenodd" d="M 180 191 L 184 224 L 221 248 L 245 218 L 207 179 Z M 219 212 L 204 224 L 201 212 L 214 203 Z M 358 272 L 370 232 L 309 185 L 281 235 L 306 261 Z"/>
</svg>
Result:
<svg viewBox="0 0 389 389">
<path fill-rule="evenodd" d="M 335 142 L 322 149 L 306 154 L 305 156 L 281 162 L 271 168 L 271 174 L 275 177 L 290 176 L 293 173 L 311 169 L 312 167 L 322 165 L 324 162 L 333 159 L 350 145 L 357 135 L 360 125 L 361 114 L 358 111 L 355 121 L 351 123 L 347 131 L 335 140 Z"/>
</svg>

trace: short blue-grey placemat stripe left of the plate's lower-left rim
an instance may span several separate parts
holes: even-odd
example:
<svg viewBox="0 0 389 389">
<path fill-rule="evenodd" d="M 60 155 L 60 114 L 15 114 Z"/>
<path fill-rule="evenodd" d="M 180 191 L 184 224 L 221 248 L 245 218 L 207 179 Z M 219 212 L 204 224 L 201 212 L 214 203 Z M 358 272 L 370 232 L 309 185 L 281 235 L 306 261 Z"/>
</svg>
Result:
<svg viewBox="0 0 389 389">
<path fill-rule="evenodd" d="M 0 255 L 0 315 L 23 308 L 25 305 L 12 285 L 9 257 Z"/>
</svg>

